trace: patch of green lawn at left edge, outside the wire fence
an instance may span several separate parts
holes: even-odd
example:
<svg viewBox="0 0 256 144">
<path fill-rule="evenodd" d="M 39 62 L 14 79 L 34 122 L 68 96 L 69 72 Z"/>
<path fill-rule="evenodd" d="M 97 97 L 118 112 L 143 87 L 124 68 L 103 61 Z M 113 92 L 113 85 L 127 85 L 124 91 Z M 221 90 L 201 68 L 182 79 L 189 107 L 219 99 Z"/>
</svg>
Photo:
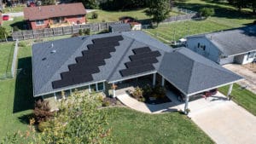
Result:
<svg viewBox="0 0 256 144">
<path fill-rule="evenodd" d="M 14 49 L 14 43 L 0 43 L 0 78 L 10 72 Z"/>
</svg>

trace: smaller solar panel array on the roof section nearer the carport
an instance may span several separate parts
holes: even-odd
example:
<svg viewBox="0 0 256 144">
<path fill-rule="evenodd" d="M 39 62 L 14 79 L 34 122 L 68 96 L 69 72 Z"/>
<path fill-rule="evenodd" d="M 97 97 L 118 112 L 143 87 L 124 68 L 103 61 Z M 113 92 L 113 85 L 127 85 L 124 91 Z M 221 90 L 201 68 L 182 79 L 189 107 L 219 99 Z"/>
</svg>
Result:
<svg viewBox="0 0 256 144">
<path fill-rule="evenodd" d="M 153 64 L 158 62 L 156 57 L 160 56 L 159 51 L 143 47 L 132 49 L 132 52 L 134 55 L 129 56 L 131 61 L 125 63 L 126 69 L 119 71 L 122 77 L 154 70 Z"/>
</svg>

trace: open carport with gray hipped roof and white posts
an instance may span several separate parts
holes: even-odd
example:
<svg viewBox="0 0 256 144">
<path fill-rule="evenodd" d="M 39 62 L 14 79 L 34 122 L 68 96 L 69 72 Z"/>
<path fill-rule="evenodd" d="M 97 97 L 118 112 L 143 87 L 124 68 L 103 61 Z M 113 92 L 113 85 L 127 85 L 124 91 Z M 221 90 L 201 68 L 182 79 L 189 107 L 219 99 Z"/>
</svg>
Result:
<svg viewBox="0 0 256 144">
<path fill-rule="evenodd" d="M 233 84 L 243 79 L 187 49 L 166 53 L 158 73 L 162 76 L 163 81 L 166 79 L 185 95 L 184 112 L 189 108 L 190 96 L 230 84 L 227 94 L 229 97 Z"/>
</svg>

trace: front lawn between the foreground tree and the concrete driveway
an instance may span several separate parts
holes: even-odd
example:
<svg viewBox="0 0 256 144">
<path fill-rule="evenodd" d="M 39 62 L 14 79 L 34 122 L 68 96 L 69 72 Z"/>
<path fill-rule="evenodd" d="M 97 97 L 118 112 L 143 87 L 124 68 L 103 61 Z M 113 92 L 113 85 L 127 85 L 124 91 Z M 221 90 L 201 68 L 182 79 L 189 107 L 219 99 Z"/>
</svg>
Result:
<svg viewBox="0 0 256 144">
<path fill-rule="evenodd" d="M 104 109 L 113 143 L 214 143 L 189 118 L 178 112 L 146 114 L 125 107 Z"/>
</svg>

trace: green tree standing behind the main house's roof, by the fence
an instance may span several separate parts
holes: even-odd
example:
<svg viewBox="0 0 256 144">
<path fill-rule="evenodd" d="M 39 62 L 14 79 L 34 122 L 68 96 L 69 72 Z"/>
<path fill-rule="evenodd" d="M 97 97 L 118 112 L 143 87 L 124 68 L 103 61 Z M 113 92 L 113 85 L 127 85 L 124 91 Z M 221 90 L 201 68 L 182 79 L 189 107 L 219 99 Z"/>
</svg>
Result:
<svg viewBox="0 0 256 144">
<path fill-rule="evenodd" d="M 152 16 L 153 22 L 159 23 L 169 16 L 171 10 L 170 0 L 148 0 L 146 14 Z"/>
</svg>

